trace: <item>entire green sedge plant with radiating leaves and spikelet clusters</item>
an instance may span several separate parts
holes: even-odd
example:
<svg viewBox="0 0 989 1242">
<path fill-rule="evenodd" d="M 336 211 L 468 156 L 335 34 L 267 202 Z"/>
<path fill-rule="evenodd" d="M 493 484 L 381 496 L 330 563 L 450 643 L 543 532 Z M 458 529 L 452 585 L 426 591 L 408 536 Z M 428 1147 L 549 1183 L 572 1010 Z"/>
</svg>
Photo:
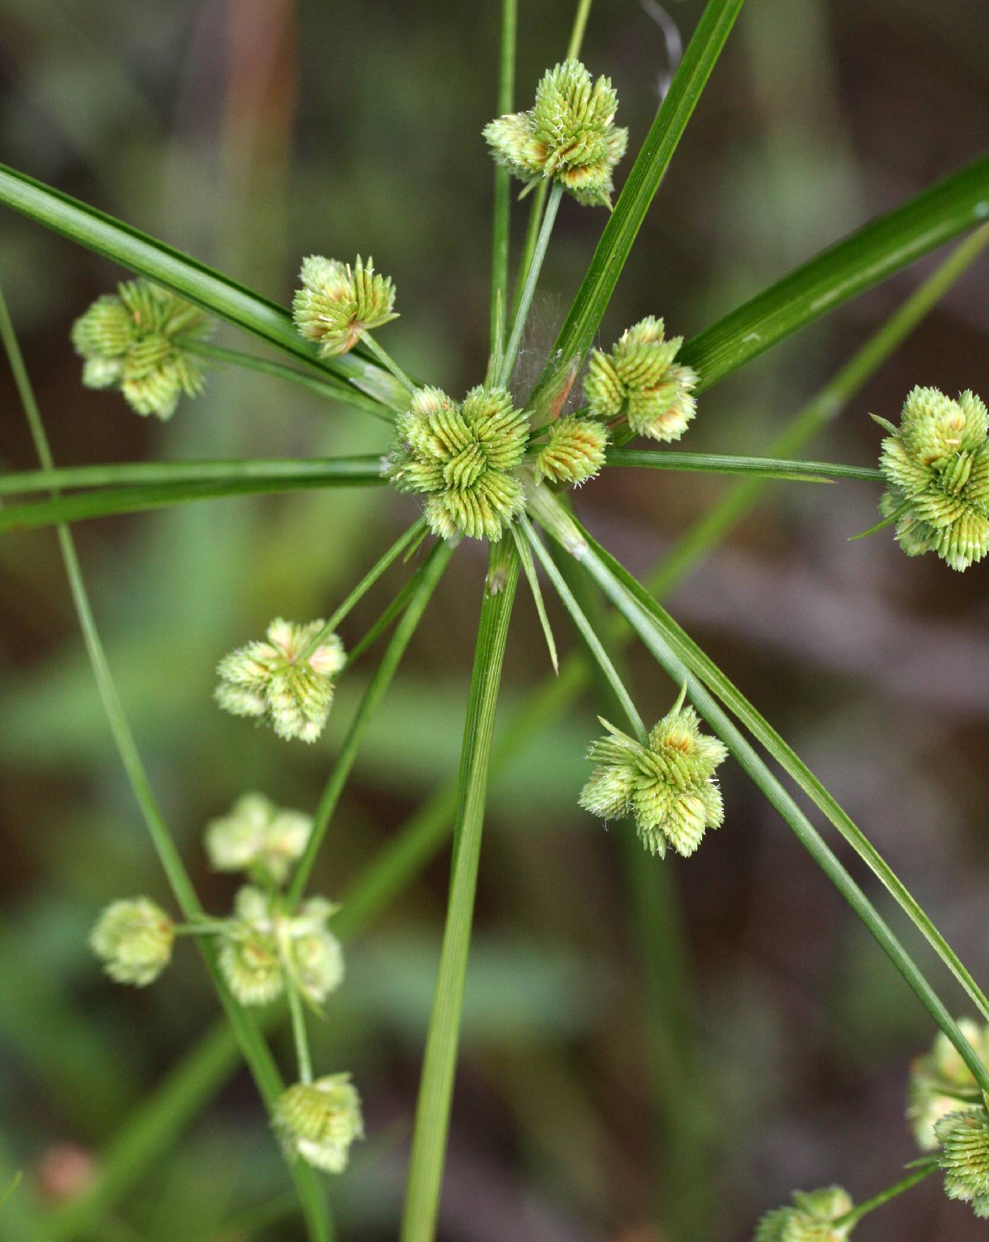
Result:
<svg viewBox="0 0 989 1242">
<path fill-rule="evenodd" d="M 196 1098 L 204 1100 L 239 1052 L 250 1066 L 294 1180 L 308 1236 L 333 1236 L 321 1179 L 345 1175 L 352 1145 L 364 1136 L 360 1084 L 347 1067 L 314 1066 L 308 1026 L 332 1022 L 343 984 L 340 941 L 355 934 L 440 847 L 452 827 L 450 891 L 420 1088 L 412 1125 L 403 1242 L 436 1237 L 451 1102 L 461 1035 L 475 894 L 482 857 L 486 794 L 492 769 L 527 730 L 577 698 L 591 671 L 618 719 L 586 719 L 588 775 L 574 790 L 579 809 L 603 821 L 627 821 L 649 867 L 688 859 L 708 831 L 731 831 L 732 807 L 718 776 L 736 764 L 851 905 L 924 1007 L 936 1028 L 932 1052 L 918 1061 L 909 1115 L 924 1155 L 906 1177 L 855 1203 L 839 1186 L 795 1191 L 754 1226 L 757 1242 L 840 1240 L 867 1212 L 941 1170 L 949 1197 L 989 1213 L 989 999 L 950 944 L 836 797 L 758 708 L 663 609 L 659 596 L 737 520 L 769 479 L 790 483 L 862 482 L 877 492 L 880 523 L 895 528 L 909 556 L 931 554 L 944 571 L 968 571 L 989 553 L 989 424 L 978 394 L 946 394 L 918 376 L 902 410 L 877 412 L 886 438 L 877 465 L 861 468 L 794 456 L 861 388 L 932 302 L 987 243 L 978 229 L 989 201 L 989 160 L 948 176 L 901 207 L 811 258 L 692 339 L 676 333 L 676 307 L 656 306 L 600 340 L 601 322 L 636 233 L 743 9 L 743 0 L 709 0 L 649 133 L 630 161 L 630 135 L 606 73 L 581 61 L 589 0 L 581 0 L 564 57 L 528 97 L 514 91 L 516 0 L 503 0 L 497 116 L 477 135 L 494 163 L 494 222 L 490 360 L 466 392 L 447 392 L 431 376 L 412 378 L 388 351 L 388 324 L 400 288 L 374 262 L 299 256 L 291 310 L 235 283 L 165 242 L 0 168 L 0 201 L 87 246 L 130 273 L 116 291 L 82 310 L 71 345 L 81 380 L 109 390 L 138 415 L 198 416 L 209 401 L 214 365 L 260 370 L 327 401 L 370 414 L 381 426 L 380 452 L 367 457 L 142 462 L 57 468 L 0 302 L 0 335 L 40 458 L 40 469 L 0 476 L 0 532 L 56 525 L 73 602 L 109 728 L 171 887 L 174 910 L 144 895 L 121 895 L 94 912 L 93 953 L 111 980 L 144 987 L 162 976 L 183 938 L 198 943 L 229 1028 L 193 1054 Z M 594 61 L 593 53 L 588 56 Z M 635 143 L 631 144 L 635 147 Z M 622 171 L 627 168 L 627 171 Z M 513 190 L 528 200 L 518 268 L 509 279 Z M 522 379 L 519 347 L 543 261 L 558 221 L 590 211 L 603 227 L 586 273 L 547 353 L 534 385 Z M 836 310 L 942 243 L 970 232 L 917 294 L 867 342 L 815 402 L 759 457 L 680 447 L 703 419 L 703 394 L 762 351 Z M 216 320 L 232 324 L 278 355 L 211 344 Z M 668 322 L 667 322 L 668 320 Z M 627 447 L 641 441 L 637 447 Z M 670 448 L 676 445 L 676 448 Z M 681 550 L 646 581 L 630 574 L 586 529 L 575 489 L 610 469 L 672 469 L 741 476 Z M 250 787 L 230 811 L 204 826 L 210 864 L 242 876 L 232 908 L 207 913 L 190 881 L 117 696 L 89 607 L 70 523 L 107 514 L 179 505 L 199 498 L 338 487 L 394 488 L 417 515 L 369 566 L 326 619 L 258 619 L 253 635 L 231 635 L 217 652 L 217 710 L 268 729 L 270 745 L 317 745 L 333 710 L 334 689 L 353 662 L 379 640 L 384 650 L 330 766 L 312 814 L 276 806 Z M 834 488 L 818 487 L 821 504 Z M 332 499 L 329 501 L 332 504 Z M 440 587 L 450 561 L 472 542 L 486 544 L 487 575 L 461 763 L 441 791 L 386 846 L 342 905 L 309 892 L 309 879 L 368 725 L 403 655 Z M 856 549 L 849 548 L 849 555 Z M 415 559 L 394 601 L 368 633 L 344 642 L 340 627 L 364 595 L 401 561 Z M 558 596 L 581 640 L 564 661 L 552 632 L 540 581 Z M 536 600 L 553 674 L 547 688 L 494 745 L 494 717 L 506 645 L 519 590 Z M 595 591 L 613 609 L 604 625 L 586 605 Z M 385 638 L 386 636 L 386 638 Z M 644 702 L 626 686 L 619 648 L 637 640 L 668 674 L 668 694 Z M 769 766 L 782 769 L 789 786 Z M 860 882 L 794 800 L 808 799 L 885 886 L 941 966 L 964 990 L 977 1018 L 955 1020 L 914 956 Z M 687 869 L 688 874 L 688 869 Z M 164 984 L 162 984 L 164 986 Z M 291 1027 L 294 1063 L 288 1081 L 267 1032 Z M 199 1058 L 199 1059 L 195 1059 Z M 181 1067 L 180 1067 L 181 1068 Z M 176 1079 L 178 1081 L 178 1079 Z M 183 1083 L 186 1079 L 181 1079 Z M 168 1110 L 170 1084 L 162 1100 Z M 178 1088 L 176 1088 L 178 1089 Z M 174 1113 L 171 1114 L 174 1115 Z M 134 1124 L 138 1124 L 137 1122 Z M 142 1125 L 154 1128 L 147 1118 Z M 127 1134 L 111 1160 L 123 1165 Z M 154 1144 L 149 1149 L 153 1159 Z M 114 1165 L 108 1160 L 108 1167 Z M 104 1181 L 40 1226 L 51 1236 L 84 1235 L 122 1192 L 133 1166 Z"/>
</svg>

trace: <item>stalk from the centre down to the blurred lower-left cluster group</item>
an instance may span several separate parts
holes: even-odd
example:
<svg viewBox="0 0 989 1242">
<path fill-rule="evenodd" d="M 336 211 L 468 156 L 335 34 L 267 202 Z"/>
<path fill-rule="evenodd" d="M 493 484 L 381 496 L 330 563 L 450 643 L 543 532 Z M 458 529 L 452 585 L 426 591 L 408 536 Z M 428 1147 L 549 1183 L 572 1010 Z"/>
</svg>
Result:
<svg viewBox="0 0 989 1242">
<path fill-rule="evenodd" d="M 288 886 L 288 891 L 286 893 L 286 907 L 289 910 L 298 904 L 299 898 L 306 891 L 306 884 L 309 881 L 309 874 L 312 873 L 317 854 L 319 853 L 319 847 L 327 835 L 330 820 L 333 818 L 333 812 L 337 810 L 337 804 L 339 802 L 340 794 L 347 784 L 347 777 L 350 775 L 350 769 L 354 765 L 357 753 L 360 749 L 360 743 L 364 740 L 364 734 L 368 730 L 371 717 L 384 698 L 388 687 L 391 684 L 391 678 L 395 676 L 395 671 L 398 669 L 399 662 L 405 653 L 409 640 L 415 633 L 416 626 L 426 610 L 426 605 L 429 604 L 436 585 L 442 578 L 444 570 L 450 564 L 452 553 L 453 549 L 449 543 L 439 543 L 429 554 L 422 568 L 417 570 L 417 585 L 415 594 L 410 597 L 399 623 L 395 626 L 395 632 L 391 636 L 391 641 L 385 648 L 384 655 L 381 656 L 381 662 L 375 668 L 370 684 L 364 692 L 364 697 L 362 698 L 360 705 L 358 707 L 350 724 L 347 739 L 340 748 L 340 753 L 337 755 L 337 763 L 333 765 L 333 771 L 330 773 L 329 780 L 327 781 L 322 797 L 319 799 L 319 804 L 313 817 L 313 828 L 309 833 L 309 840 L 306 843 L 306 850 L 299 859 L 296 874 L 292 877 L 292 883 Z"/>
</svg>

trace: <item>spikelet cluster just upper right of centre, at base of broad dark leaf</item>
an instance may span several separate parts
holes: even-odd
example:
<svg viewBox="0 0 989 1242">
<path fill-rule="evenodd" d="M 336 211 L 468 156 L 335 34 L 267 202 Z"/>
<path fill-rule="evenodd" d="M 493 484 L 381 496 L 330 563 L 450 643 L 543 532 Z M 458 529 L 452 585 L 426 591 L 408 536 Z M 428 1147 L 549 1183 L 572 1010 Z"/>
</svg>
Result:
<svg viewBox="0 0 989 1242">
<path fill-rule="evenodd" d="M 680 440 L 697 412 L 697 375 L 675 361 L 682 337 L 663 335 L 662 319 L 649 315 L 624 332 L 610 354 L 595 349 L 584 395 L 596 419 L 624 415 L 636 436 Z"/>
</svg>

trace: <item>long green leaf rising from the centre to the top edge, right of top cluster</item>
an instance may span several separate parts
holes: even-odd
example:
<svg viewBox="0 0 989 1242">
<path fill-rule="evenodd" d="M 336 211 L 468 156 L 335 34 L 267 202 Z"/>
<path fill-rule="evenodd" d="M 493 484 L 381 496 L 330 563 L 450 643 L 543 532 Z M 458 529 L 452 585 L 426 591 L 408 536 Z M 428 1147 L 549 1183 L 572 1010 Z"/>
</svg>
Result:
<svg viewBox="0 0 989 1242">
<path fill-rule="evenodd" d="M 621 189 L 615 210 L 605 225 L 588 273 L 557 338 L 550 364 L 539 383 L 540 390 L 549 385 L 553 375 L 569 373 L 594 339 L 632 242 L 742 4 L 743 0 L 708 0 L 673 75 L 670 91 Z"/>
</svg>

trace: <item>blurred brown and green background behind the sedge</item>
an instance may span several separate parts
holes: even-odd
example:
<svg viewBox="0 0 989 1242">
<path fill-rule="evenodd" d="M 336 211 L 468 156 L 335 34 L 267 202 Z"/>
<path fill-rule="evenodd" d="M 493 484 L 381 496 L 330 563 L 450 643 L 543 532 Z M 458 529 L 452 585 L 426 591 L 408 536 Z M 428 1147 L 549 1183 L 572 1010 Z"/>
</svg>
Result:
<svg viewBox="0 0 989 1242">
<path fill-rule="evenodd" d="M 280 302 L 303 255 L 371 252 L 399 289 L 388 348 L 461 392 L 486 361 L 491 165 L 480 130 L 496 97 L 497 7 L 0 0 L 4 159 Z M 562 55 L 572 14 L 562 0 L 521 10 L 522 104 Z M 667 2 L 685 39 L 700 10 Z M 977 154 L 989 122 L 984 19 L 982 0 L 750 0 L 618 287 L 605 343 L 654 312 L 673 332 L 698 330 Z M 613 76 L 635 149 L 668 72 L 654 0 L 596 0 L 584 58 Z M 552 340 L 603 222 L 564 204 L 523 365 Z M 763 451 L 931 266 L 704 395 L 687 447 Z M 72 319 L 121 273 L 10 214 L 0 268 L 61 465 L 383 447 L 373 420 L 253 374 L 215 374 L 173 422 L 142 421 L 116 395 L 81 388 L 68 343 Z M 880 432 L 867 412 L 895 417 L 914 383 L 985 395 L 988 308 L 983 263 L 810 455 L 872 465 Z M 227 328 L 217 339 L 239 344 Z M 31 467 L 6 371 L 0 384 L 0 463 Z M 613 471 L 578 504 L 645 571 L 724 486 Z M 867 484 L 772 484 L 671 606 L 984 979 L 985 570 L 907 561 L 887 534 L 849 545 L 875 520 L 876 499 Z M 312 749 L 217 712 L 215 662 L 272 615 L 326 614 L 412 512 L 367 489 L 77 528 L 127 710 L 217 912 L 232 886 L 206 869 L 204 822 L 245 789 L 311 807 L 373 657 L 345 678 Z M 360 753 L 318 869 L 332 895 L 456 769 L 480 549 L 465 546 L 457 566 Z M 405 574 L 348 619 L 345 641 Z M 168 894 L 52 534 L 0 540 L 0 1182 L 6 1170 L 27 1175 L 0 1212 L 0 1237 L 21 1242 L 20 1213 L 86 1185 L 135 1103 L 217 1011 L 189 946 L 147 992 L 112 986 L 86 949 L 107 900 Z M 502 722 L 547 672 L 524 599 L 507 668 Z M 673 694 L 662 676 L 634 656 L 630 677 L 644 714 L 661 714 Z M 627 826 L 603 832 L 577 807 L 594 733 L 588 698 L 492 789 L 442 1237 L 733 1242 L 794 1186 L 840 1181 L 865 1197 L 893 1180 L 914 1154 L 905 1078 L 932 1036 L 926 1015 L 731 765 L 726 827 L 688 863 L 651 863 L 644 879 Z M 395 1233 L 446 879 L 444 848 L 349 945 L 345 986 L 316 1036 L 318 1064 L 352 1068 L 365 1099 L 369 1141 L 330 1186 L 347 1240 Z M 948 982 L 944 994 L 960 1007 Z M 288 1067 L 281 1035 L 276 1046 Z M 81 1236 L 289 1240 L 299 1235 L 287 1185 L 241 1069 Z M 281 1206 L 276 1223 L 262 1213 L 236 1225 L 266 1203 Z M 932 1181 L 856 1237 L 982 1232 Z"/>
</svg>

